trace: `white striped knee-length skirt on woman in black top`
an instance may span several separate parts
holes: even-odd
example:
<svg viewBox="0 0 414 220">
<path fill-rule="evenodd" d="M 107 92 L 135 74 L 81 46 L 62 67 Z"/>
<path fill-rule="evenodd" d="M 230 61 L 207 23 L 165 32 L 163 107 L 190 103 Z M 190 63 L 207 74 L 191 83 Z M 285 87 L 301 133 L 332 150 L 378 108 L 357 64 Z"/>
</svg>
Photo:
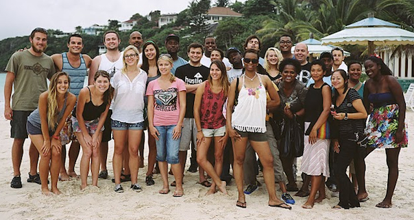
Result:
<svg viewBox="0 0 414 220">
<path fill-rule="evenodd" d="M 305 130 L 310 122 L 305 122 Z M 304 137 L 304 155 L 302 158 L 302 172 L 310 176 L 329 177 L 329 146 L 330 139 L 317 138 L 316 143 L 309 143 L 309 136 Z"/>
</svg>

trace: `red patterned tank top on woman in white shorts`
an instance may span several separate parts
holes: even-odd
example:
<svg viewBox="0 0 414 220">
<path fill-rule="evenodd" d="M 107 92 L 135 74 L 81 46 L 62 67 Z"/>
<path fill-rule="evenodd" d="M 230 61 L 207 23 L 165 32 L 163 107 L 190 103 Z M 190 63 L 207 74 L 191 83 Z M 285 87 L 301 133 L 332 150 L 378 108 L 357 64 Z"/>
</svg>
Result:
<svg viewBox="0 0 414 220">
<path fill-rule="evenodd" d="M 210 89 L 210 83 L 206 81 L 206 88 L 200 107 L 200 118 L 202 128 L 217 129 L 226 125 L 226 119 L 223 116 L 223 105 L 227 97 L 224 96 L 223 90 L 215 94 Z"/>
</svg>

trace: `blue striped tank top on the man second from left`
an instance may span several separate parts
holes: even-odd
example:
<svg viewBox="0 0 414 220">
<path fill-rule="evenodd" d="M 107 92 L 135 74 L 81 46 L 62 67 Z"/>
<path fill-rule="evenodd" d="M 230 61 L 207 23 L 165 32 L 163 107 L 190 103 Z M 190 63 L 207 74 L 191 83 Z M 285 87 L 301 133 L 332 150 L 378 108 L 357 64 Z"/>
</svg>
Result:
<svg viewBox="0 0 414 220">
<path fill-rule="evenodd" d="M 80 66 L 78 68 L 74 68 L 69 63 L 66 53 L 62 53 L 62 62 L 62 72 L 66 72 L 71 78 L 70 91 L 77 97 L 79 96 L 80 90 L 84 87 L 85 77 L 88 74 L 84 57 L 80 54 Z"/>
</svg>

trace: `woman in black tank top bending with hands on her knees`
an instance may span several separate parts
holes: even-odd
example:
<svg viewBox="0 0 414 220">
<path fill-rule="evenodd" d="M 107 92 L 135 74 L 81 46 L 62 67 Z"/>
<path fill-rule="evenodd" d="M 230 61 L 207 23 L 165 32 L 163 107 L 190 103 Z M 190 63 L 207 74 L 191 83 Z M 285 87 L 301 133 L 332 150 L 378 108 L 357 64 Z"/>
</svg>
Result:
<svg viewBox="0 0 414 220">
<path fill-rule="evenodd" d="M 110 85 L 108 72 L 98 70 L 93 85 L 80 90 L 77 107 L 73 111 L 73 132 L 82 146 L 80 161 L 81 189 L 88 185 L 89 164 L 91 164 L 92 184 L 97 186 L 99 173 L 99 144 L 102 139 L 103 123 L 108 115 L 114 88 Z M 91 163 L 92 159 L 92 163 Z"/>
</svg>

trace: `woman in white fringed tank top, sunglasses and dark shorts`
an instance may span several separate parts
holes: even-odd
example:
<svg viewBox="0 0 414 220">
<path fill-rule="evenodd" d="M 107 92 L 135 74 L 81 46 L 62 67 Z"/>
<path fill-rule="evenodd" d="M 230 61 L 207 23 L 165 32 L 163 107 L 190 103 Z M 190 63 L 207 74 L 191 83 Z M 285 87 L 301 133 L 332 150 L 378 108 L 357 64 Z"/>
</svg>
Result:
<svg viewBox="0 0 414 220">
<path fill-rule="evenodd" d="M 278 107 L 280 99 L 269 77 L 256 72 L 258 53 L 255 50 L 247 49 L 243 62 L 245 74 L 230 85 L 227 106 L 227 128 L 229 136 L 232 138 L 234 151 L 234 180 L 236 180 L 237 191 L 239 191 L 236 206 L 246 208 L 245 194 L 243 193 L 243 162 L 247 141 L 249 141 L 263 164 L 263 176 L 269 193 L 269 206 L 291 209 L 291 206 L 276 196 L 273 156 L 271 156 L 265 135 L 267 108 Z M 236 84 L 239 84 L 237 88 Z M 232 112 L 236 90 L 239 91 L 238 104 Z M 266 102 L 266 92 L 271 98 L 269 102 Z"/>
</svg>

